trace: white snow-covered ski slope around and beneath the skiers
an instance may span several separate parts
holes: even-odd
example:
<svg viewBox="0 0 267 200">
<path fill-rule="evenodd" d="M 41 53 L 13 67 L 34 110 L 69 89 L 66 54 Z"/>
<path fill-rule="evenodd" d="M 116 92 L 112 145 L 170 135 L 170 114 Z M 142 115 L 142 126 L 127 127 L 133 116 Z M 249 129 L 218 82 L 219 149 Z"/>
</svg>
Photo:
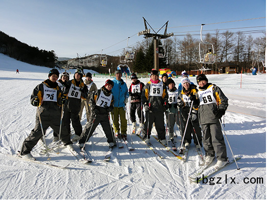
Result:
<svg viewBox="0 0 267 200">
<path fill-rule="evenodd" d="M 16 74 L 16 69 L 19 74 Z M 108 150 L 101 126 L 96 129 L 86 149 L 94 162 L 84 165 L 65 148 L 51 152 L 51 162 L 70 164 L 69 169 L 57 169 L 17 159 L 11 154 L 20 150 L 24 139 L 35 125 L 36 108 L 30 105 L 34 87 L 48 77 L 49 68 L 15 61 L 0 54 L 0 198 L 1 199 L 266 199 L 266 75 L 208 75 L 210 83 L 218 85 L 229 98 L 224 122 L 233 153 L 242 158 L 219 171 L 213 182 L 193 184 L 188 174 L 197 168 L 197 152 L 189 149 L 184 164 L 166 151 L 154 138 L 151 143 L 165 158 L 161 159 L 136 135 L 128 135 L 134 151 L 126 146 L 115 148 L 109 163 L 103 161 Z M 73 74 L 74 71 L 72 71 Z M 195 77 L 190 77 L 195 82 Z M 106 79 L 94 78 L 98 88 Z M 141 81 L 146 82 L 145 78 Z M 175 79 L 176 85 L 180 78 Z M 127 85 L 130 85 L 127 80 Z M 86 123 L 83 113 L 82 125 Z M 131 122 L 128 122 L 131 124 Z M 128 126 L 130 133 L 131 126 Z M 153 132 L 152 134 L 156 134 Z M 179 131 L 177 134 L 180 135 Z M 47 143 L 53 139 L 47 130 Z M 177 146 L 181 137 L 177 138 Z M 46 161 L 38 144 L 32 154 Z M 228 156 L 232 157 L 228 148 Z M 226 183 L 227 175 L 227 183 Z M 216 184 L 218 178 L 220 184 Z M 231 183 L 231 178 L 234 182 Z M 245 179 L 246 178 L 246 179 Z M 258 179 L 257 179 L 258 178 Z M 260 181 L 263 183 L 244 183 Z M 215 183 L 215 184 L 213 184 Z"/>
</svg>

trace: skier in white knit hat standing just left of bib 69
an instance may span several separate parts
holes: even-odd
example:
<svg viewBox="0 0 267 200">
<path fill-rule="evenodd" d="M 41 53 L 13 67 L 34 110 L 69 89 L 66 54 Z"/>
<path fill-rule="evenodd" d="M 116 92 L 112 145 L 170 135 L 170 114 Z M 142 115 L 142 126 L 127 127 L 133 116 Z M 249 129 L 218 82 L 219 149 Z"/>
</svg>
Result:
<svg viewBox="0 0 267 200">
<path fill-rule="evenodd" d="M 191 81 L 188 77 L 183 77 L 181 79 L 181 83 L 182 83 L 183 89 L 182 89 L 181 93 L 179 94 L 178 101 L 179 101 L 179 106 L 182 108 L 182 121 L 183 121 L 183 124 L 185 127 L 186 123 L 187 123 L 190 107 L 192 104 L 192 102 L 190 100 L 190 96 L 195 95 L 198 90 L 196 89 L 195 85 L 191 84 Z M 183 131 L 183 134 L 184 134 L 184 131 Z M 193 135 L 194 144 L 195 144 L 196 148 L 201 148 L 202 147 L 202 133 L 201 133 L 201 128 L 200 128 L 199 122 L 198 122 L 197 109 L 193 109 L 193 108 L 192 108 L 191 113 L 189 115 L 189 121 L 187 124 L 185 136 L 184 136 L 184 146 L 185 147 L 190 146 L 191 140 L 192 140 L 192 135 Z M 197 138 L 195 135 L 197 136 Z M 200 146 L 198 145 L 198 142 L 199 142 Z"/>
</svg>

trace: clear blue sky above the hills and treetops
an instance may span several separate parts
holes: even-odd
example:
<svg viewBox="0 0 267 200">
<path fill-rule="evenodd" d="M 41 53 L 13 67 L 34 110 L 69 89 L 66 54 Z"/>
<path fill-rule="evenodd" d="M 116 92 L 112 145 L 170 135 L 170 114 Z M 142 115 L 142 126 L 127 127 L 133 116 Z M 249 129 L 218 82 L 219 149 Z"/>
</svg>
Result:
<svg viewBox="0 0 267 200">
<path fill-rule="evenodd" d="M 54 50 L 58 57 L 101 53 L 102 49 L 103 54 L 118 55 L 127 46 L 127 37 L 130 37 L 129 46 L 144 39 L 137 36 L 144 30 L 142 17 L 153 29 L 169 21 L 168 33 L 183 34 L 180 32 L 200 32 L 201 26 L 194 25 L 201 24 L 207 24 L 204 30 L 266 26 L 266 18 L 239 21 L 265 16 L 265 0 L 0 1 L 1 31 L 39 49 Z M 229 21 L 239 22 L 221 23 Z M 266 28 L 240 30 L 262 29 Z M 176 37 L 183 39 L 183 36 Z"/>
</svg>

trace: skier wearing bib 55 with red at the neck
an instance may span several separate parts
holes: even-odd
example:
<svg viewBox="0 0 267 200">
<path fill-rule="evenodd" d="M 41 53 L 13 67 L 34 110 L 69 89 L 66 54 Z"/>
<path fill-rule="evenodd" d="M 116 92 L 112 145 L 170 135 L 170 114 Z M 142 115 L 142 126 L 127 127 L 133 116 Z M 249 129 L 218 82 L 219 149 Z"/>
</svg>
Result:
<svg viewBox="0 0 267 200">
<path fill-rule="evenodd" d="M 150 81 L 145 85 L 142 92 L 142 101 L 146 111 L 146 121 L 143 129 L 144 141 L 150 143 L 149 139 L 154 123 L 160 142 L 167 145 L 164 112 L 168 109 L 168 93 L 166 86 L 159 80 L 157 70 L 151 71 Z"/>
</svg>

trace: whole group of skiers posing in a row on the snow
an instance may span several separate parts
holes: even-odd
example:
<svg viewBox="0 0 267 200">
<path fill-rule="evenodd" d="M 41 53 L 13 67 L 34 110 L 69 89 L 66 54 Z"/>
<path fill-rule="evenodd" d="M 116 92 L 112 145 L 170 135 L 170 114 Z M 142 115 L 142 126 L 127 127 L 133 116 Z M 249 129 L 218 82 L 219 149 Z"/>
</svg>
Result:
<svg viewBox="0 0 267 200">
<path fill-rule="evenodd" d="M 130 96 L 130 120 L 133 129 L 137 125 L 137 112 L 146 143 L 150 143 L 154 124 L 159 141 L 167 146 L 166 118 L 171 141 L 176 134 L 176 123 L 184 147 L 190 146 L 192 136 L 197 148 L 201 148 L 203 143 L 205 164 L 210 164 L 215 156 L 217 167 L 227 164 L 226 145 L 219 120 L 228 107 L 228 98 L 218 86 L 208 83 L 205 74 L 196 77 L 198 89 L 185 71 L 178 88 L 166 73 L 162 74 L 160 81 L 157 70 L 151 71 L 147 84 L 140 82 L 137 75 L 132 73 L 129 89 L 122 79 L 121 70 L 115 72 L 113 80 L 107 79 L 100 89 L 97 89 L 90 72 L 86 73 L 84 82 L 82 77 L 83 72 L 77 69 L 72 80 L 68 72 L 63 72 L 57 82 L 59 72 L 52 69 L 48 79 L 35 87 L 31 104 L 37 107 L 36 124 L 25 139 L 20 156 L 33 159 L 30 152 L 48 127 L 54 130 L 54 141 L 61 139 L 67 148 L 73 149 L 73 141 L 79 141 L 79 146 L 84 148 L 98 124 L 101 124 L 109 147 L 116 146 L 116 137 L 127 139 L 126 104 Z M 82 130 L 80 120 L 84 106 L 87 123 Z M 109 113 L 114 127 L 110 123 Z M 71 122 L 75 131 L 72 140 Z"/>
</svg>

